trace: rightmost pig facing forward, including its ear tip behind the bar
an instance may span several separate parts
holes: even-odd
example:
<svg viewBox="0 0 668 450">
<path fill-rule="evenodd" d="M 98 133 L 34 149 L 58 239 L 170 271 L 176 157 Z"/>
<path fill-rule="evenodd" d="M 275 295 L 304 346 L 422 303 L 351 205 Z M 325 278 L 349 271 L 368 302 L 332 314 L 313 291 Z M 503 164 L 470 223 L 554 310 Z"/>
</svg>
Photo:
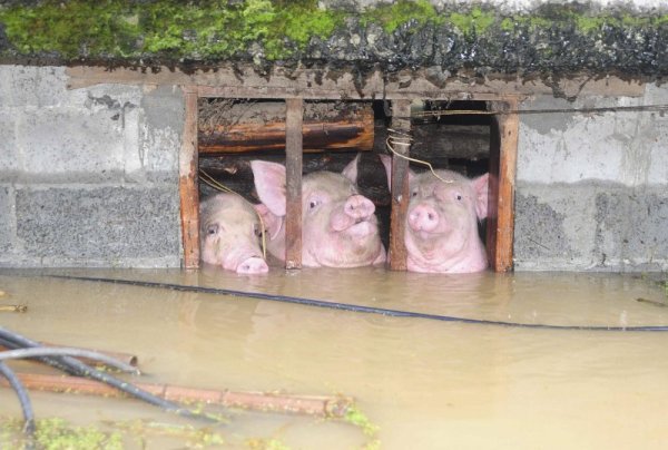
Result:
<svg viewBox="0 0 668 450">
<path fill-rule="evenodd" d="M 390 184 L 391 158 L 381 157 Z M 472 273 L 488 267 L 478 221 L 488 216 L 489 174 L 469 179 L 452 170 L 409 172 L 405 217 L 406 268 L 425 273 Z"/>
</svg>

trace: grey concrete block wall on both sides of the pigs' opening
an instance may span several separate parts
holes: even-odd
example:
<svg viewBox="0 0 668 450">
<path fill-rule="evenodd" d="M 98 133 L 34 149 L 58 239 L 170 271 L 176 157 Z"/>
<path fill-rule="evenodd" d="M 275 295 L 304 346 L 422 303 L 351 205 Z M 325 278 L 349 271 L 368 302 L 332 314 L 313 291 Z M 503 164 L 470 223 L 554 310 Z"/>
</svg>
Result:
<svg viewBox="0 0 668 450">
<path fill-rule="evenodd" d="M 180 265 L 179 88 L 0 66 L 0 266 Z M 537 96 L 524 109 L 668 104 Z M 521 116 L 515 270 L 668 270 L 668 115 Z"/>
</svg>

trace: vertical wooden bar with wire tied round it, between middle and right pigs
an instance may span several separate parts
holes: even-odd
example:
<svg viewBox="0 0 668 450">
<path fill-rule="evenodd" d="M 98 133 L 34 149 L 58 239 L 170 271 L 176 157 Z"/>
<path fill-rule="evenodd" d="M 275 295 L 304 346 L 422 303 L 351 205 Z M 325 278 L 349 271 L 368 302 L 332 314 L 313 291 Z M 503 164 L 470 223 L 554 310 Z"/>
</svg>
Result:
<svg viewBox="0 0 668 450">
<path fill-rule="evenodd" d="M 399 134 L 411 133 L 411 100 L 392 101 L 391 128 Z M 390 131 L 392 133 L 392 131 Z M 400 135 L 401 136 L 401 135 Z M 410 145 L 393 145 L 394 151 L 409 156 Z M 406 270 L 406 246 L 404 244 L 405 217 L 409 212 L 409 162 L 393 155 L 392 157 L 392 211 L 390 214 L 390 268 Z"/>
</svg>

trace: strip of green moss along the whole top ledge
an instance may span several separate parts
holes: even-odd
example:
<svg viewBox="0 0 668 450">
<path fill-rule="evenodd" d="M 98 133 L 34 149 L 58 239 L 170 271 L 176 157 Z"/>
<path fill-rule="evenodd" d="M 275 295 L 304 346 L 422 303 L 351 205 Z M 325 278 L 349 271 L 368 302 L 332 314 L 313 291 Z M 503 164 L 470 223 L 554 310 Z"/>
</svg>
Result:
<svg viewBox="0 0 668 450">
<path fill-rule="evenodd" d="M 314 39 L 325 40 L 346 23 L 377 23 L 393 33 L 435 27 L 461 31 L 466 42 L 484 36 L 495 40 L 542 30 L 597 37 L 607 28 L 652 30 L 666 27 L 668 14 L 598 13 L 582 6 L 548 4 L 510 17 L 485 7 L 436 10 L 429 0 L 383 2 L 363 12 L 318 8 L 317 0 L 42 0 L 0 7 L 0 29 L 7 40 L 0 56 L 53 56 L 81 59 L 181 61 L 216 65 L 229 59 L 275 61 L 301 57 Z M 452 7 L 451 7 L 452 8 Z M 347 20 L 350 18 L 357 19 Z M 438 28 L 441 25 L 448 27 Z M 510 37 L 508 36 L 510 33 Z M 517 35 L 519 36 L 519 35 Z M 511 42 L 512 43 L 512 42 Z M 544 45 L 543 45 L 544 43 Z M 541 47 L 542 45 L 542 47 Z M 638 43 L 642 46 L 642 43 Z M 641 52 L 638 52 L 641 55 Z"/>
</svg>

